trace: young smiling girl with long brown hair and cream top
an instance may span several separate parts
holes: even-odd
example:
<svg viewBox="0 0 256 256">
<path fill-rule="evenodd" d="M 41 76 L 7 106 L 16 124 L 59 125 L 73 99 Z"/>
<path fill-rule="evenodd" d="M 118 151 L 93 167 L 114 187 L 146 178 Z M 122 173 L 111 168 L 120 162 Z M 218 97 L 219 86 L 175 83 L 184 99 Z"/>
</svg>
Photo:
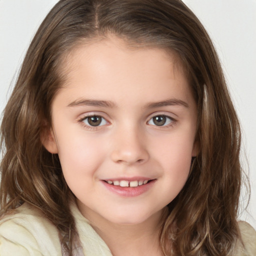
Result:
<svg viewBox="0 0 256 256">
<path fill-rule="evenodd" d="M 1 135 L 1 256 L 256 254 L 237 116 L 180 0 L 60 0 Z"/>
</svg>

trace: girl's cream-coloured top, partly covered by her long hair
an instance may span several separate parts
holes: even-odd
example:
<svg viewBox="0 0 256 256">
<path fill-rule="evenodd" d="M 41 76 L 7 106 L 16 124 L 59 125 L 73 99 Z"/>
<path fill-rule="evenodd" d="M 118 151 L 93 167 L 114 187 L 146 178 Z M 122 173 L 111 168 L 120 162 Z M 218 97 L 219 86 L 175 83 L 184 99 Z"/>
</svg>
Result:
<svg viewBox="0 0 256 256">
<path fill-rule="evenodd" d="M 112 256 L 105 242 L 82 216 L 75 204 L 71 204 L 71 211 L 75 218 L 83 254 Z M 233 256 L 256 256 L 255 230 L 244 221 L 239 222 L 239 227 L 246 249 L 243 249 L 241 242 L 237 242 Z M 61 256 L 61 253 L 56 227 L 26 203 L 15 209 L 15 214 L 6 215 L 0 220 L 0 256 Z"/>
</svg>

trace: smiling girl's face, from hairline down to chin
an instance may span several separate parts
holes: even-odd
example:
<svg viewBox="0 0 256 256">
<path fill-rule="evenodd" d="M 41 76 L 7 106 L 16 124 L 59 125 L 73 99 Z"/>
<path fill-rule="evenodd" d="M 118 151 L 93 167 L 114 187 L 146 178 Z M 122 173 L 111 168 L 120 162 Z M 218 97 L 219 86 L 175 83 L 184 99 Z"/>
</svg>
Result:
<svg viewBox="0 0 256 256">
<path fill-rule="evenodd" d="M 196 104 L 179 61 L 112 37 L 76 48 L 64 68 L 43 143 L 81 213 L 126 224 L 160 214 L 196 154 Z"/>
</svg>

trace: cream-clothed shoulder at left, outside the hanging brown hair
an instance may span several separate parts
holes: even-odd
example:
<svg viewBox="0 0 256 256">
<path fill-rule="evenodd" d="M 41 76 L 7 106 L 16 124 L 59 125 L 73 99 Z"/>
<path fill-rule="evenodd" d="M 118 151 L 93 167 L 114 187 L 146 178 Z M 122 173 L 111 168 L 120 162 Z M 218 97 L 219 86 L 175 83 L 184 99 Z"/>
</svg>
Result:
<svg viewBox="0 0 256 256">
<path fill-rule="evenodd" d="M 24 203 L 0 219 L 0 255 L 61 255 L 58 231 Z"/>
</svg>

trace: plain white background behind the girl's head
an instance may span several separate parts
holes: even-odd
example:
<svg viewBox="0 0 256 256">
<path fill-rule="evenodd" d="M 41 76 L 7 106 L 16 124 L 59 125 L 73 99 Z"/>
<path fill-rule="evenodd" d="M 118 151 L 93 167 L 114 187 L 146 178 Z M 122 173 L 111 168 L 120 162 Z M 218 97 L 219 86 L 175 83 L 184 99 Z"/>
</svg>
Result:
<svg viewBox="0 0 256 256">
<path fill-rule="evenodd" d="M 36 28 L 56 2 L 0 0 L 0 111 Z M 241 156 L 245 170 L 249 169 L 251 199 L 248 212 L 243 211 L 240 219 L 256 229 L 256 0 L 184 2 L 199 17 L 213 40 L 241 121 Z"/>
</svg>

